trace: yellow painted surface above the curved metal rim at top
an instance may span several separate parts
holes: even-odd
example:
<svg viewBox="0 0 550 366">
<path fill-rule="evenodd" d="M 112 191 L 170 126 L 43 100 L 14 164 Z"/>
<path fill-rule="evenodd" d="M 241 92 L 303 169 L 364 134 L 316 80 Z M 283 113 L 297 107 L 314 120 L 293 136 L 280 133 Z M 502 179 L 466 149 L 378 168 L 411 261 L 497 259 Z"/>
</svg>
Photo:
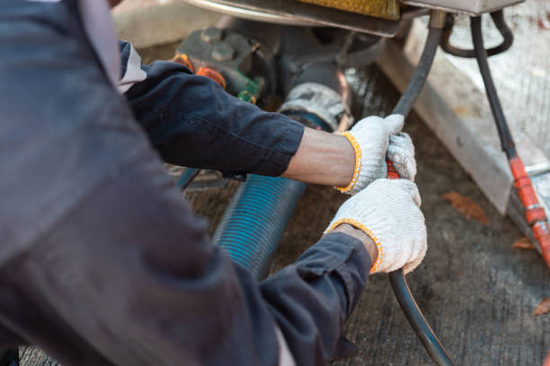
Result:
<svg viewBox="0 0 550 366">
<path fill-rule="evenodd" d="M 391 20 L 399 19 L 398 0 L 297 0 L 308 3 L 340 9 L 346 12 L 359 13 Z"/>
</svg>

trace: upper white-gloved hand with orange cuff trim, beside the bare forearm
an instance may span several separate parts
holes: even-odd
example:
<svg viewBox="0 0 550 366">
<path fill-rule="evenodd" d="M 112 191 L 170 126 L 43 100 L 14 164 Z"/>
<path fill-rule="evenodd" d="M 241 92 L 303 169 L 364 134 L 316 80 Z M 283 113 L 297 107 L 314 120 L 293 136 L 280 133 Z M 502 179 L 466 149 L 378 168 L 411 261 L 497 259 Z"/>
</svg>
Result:
<svg viewBox="0 0 550 366">
<path fill-rule="evenodd" d="M 394 162 L 401 178 L 413 181 L 416 176 L 414 146 L 411 137 L 401 133 L 403 123 L 402 115 L 371 116 L 342 133 L 355 151 L 355 171 L 347 187 L 336 189 L 355 195 L 376 179 L 386 178 L 386 157 Z"/>
</svg>

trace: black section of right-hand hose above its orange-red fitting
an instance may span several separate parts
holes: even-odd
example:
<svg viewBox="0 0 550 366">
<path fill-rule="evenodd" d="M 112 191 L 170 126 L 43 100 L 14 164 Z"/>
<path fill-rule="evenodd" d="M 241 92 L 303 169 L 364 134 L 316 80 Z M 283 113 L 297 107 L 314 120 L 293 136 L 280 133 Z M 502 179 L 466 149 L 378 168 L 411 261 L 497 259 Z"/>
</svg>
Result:
<svg viewBox="0 0 550 366">
<path fill-rule="evenodd" d="M 472 39 L 474 40 L 475 58 L 477 59 L 477 65 L 479 65 L 479 71 L 483 76 L 483 83 L 487 91 L 487 99 L 489 99 L 492 116 L 499 130 L 502 150 L 510 160 L 518 156 L 518 153 L 516 152 L 516 145 L 510 134 L 510 128 L 506 122 L 506 117 L 504 117 L 504 112 L 502 111 L 501 100 L 499 100 L 499 95 L 492 82 L 491 69 L 487 61 L 487 51 L 483 47 L 481 16 L 473 16 L 470 18 L 470 28 L 472 29 Z"/>
</svg>

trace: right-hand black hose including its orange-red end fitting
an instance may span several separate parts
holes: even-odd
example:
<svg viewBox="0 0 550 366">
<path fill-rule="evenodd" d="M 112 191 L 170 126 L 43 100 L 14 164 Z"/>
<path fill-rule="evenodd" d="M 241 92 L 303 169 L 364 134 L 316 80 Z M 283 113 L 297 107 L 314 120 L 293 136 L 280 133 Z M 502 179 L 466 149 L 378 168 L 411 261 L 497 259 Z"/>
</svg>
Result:
<svg viewBox="0 0 550 366">
<path fill-rule="evenodd" d="M 519 199 L 525 207 L 525 220 L 532 228 L 537 240 L 537 249 L 544 258 L 546 266 L 550 269 L 550 226 L 548 225 L 545 209 L 539 205 L 537 193 L 516 151 L 516 145 L 502 111 L 501 101 L 492 82 L 491 69 L 487 61 L 487 51 L 483 46 L 481 16 L 471 18 L 471 29 L 472 39 L 474 39 L 475 57 L 483 76 L 483 83 L 485 84 L 487 99 L 491 105 L 492 116 L 499 131 L 502 150 L 510 161 L 510 170 L 514 177 L 514 184 L 518 191 Z"/>
</svg>

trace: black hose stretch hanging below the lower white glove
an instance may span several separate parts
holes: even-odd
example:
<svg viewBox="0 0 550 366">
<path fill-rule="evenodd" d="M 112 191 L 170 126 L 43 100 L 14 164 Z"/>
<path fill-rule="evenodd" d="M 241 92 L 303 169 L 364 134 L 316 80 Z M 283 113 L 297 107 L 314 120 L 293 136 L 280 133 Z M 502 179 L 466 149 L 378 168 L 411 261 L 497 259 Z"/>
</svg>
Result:
<svg viewBox="0 0 550 366">
<path fill-rule="evenodd" d="M 404 315 L 409 320 L 412 330 L 418 335 L 421 344 L 424 346 L 431 360 L 438 365 L 453 365 L 453 361 L 448 355 L 443 344 L 439 342 L 430 325 L 424 318 L 421 309 L 412 297 L 409 285 L 405 281 L 403 269 L 390 274 L 390 282 L 395 292 L 395 298 L 399 302 Z"/>
</svg>

